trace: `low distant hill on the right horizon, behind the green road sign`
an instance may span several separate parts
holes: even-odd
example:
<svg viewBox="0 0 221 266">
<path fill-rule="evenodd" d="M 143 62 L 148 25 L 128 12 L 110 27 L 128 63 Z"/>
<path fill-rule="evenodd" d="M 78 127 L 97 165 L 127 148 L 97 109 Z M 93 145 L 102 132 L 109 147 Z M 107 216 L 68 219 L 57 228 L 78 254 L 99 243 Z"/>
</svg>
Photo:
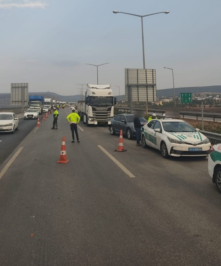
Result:
<svg viewBox="0 0 221 266">
<path fill-rule="evenodd" d="M 202 93 L 202 92 L 218 92 L 221 93 L 221 85 L 218 86 L 205 86 L 205 87 L 184 87 L 184 88 L 175 88 L 175 95 L 179 96 L 181 92 L 192 92 L 192 94 Z M 174 96 L 174 88 L 157 90 L 157 97 L 171 97 Z"/>
</svg>

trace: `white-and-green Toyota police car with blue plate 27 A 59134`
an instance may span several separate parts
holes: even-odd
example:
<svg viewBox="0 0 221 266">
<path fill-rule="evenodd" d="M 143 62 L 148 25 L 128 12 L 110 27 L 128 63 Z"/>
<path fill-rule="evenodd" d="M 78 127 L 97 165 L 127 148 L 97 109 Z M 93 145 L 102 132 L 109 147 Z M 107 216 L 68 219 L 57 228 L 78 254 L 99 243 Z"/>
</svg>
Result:
<svg viewBox="0 0 221 266">
<path fill-rule="evenodd" d="M 171 156 L 204 156 L 210 153 L 207 137 L 180 119 L 153 119 L 142 127 L 141 143 L 161 152 L 163 158 Z"/>
</svg>

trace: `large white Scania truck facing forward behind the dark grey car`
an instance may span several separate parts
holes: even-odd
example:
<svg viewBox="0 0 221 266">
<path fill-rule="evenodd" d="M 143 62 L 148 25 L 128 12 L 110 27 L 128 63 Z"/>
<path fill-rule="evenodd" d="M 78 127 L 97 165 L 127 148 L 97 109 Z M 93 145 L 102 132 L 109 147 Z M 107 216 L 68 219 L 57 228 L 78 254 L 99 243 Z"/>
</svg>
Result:
<svg viewBox="0 0 221 266">
<path fill-rule="evenodd" d="M 78 114 L 87 125 L 110 124 L 116 98 L 110 85 L 88 84 L 85 101 L 78 101 Z"/>
</svg>

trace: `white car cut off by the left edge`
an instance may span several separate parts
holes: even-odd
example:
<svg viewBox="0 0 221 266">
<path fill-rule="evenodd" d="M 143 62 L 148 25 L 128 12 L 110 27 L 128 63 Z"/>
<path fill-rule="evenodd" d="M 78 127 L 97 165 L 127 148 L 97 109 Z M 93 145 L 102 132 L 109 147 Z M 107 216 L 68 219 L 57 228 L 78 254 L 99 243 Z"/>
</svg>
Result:
<svg viewBox="0 0 221 266">
<path fill-rule="evenodd" d="M 0 113 L 0 132 L 15 133 L 19 129 L 19 119 L 15 113 Z"/>
</svg>

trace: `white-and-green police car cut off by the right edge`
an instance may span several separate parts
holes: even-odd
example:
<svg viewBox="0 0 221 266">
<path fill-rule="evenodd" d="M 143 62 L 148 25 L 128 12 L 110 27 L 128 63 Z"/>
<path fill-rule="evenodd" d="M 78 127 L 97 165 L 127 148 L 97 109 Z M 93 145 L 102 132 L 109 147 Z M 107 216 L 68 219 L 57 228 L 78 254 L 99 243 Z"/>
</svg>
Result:
<svg viewBox="0 0 221 266">
<path fill-rule="evenodd" d="M 217 190 L 221 193 L 221 144 L 211 147 L 208 158 L 208 172 Z"/>
</svg>

